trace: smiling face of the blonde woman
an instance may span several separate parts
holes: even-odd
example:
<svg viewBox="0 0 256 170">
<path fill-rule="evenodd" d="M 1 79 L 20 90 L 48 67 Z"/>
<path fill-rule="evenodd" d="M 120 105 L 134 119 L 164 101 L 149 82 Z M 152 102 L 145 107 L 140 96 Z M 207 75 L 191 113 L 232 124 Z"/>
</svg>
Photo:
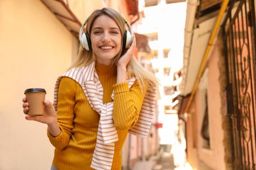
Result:
<svg viewBox="0 0 256 170">
<path fill-rule="evenodd" d="M 91 28 L 91 45 L 96 61 L 111 65 L 121 50 L 121 32 L 116 22 L 109 16 L 96 18 Z"/>
</svg>

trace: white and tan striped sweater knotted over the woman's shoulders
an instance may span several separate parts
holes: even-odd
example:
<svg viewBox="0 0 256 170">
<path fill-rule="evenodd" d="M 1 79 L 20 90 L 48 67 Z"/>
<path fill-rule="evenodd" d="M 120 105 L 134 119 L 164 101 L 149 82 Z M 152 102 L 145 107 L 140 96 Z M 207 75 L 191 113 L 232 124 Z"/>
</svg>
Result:
<svg viewBox="0 0 256 170">
<path fill-rule="evenodd" d="M 113 102 L 102 103 L 103 88 L 95 71 L 95 61 L 87 67 L 74 67 L 58 77 L 54 88 L 54 108 L 56 111 L 58 87 L 60 85 L 60 79 L 63 76 L 73 78 L 80 84 L 89 104 L 96 112 L 98 112 L 98 114 L 100 114 L 96 146 L 91 167 L 98 170 L 111 169 L 114 157 L 114 142 L 118 141 L 117 131 L 112 116 Z M 129 88 L 131 88 L 135 82 L 135 78 L 127 78 L 127 82 Z M 129 129 L 129 133 L 140 137 L 146 137 L 148 135 L 154 115 L 155 97 L 156 89 L 148 88 L 140 110 L 139 120 L 135 126 Z M 112 93 L 112 99 L 114 99 L 114 92 Z"/>
</svg>

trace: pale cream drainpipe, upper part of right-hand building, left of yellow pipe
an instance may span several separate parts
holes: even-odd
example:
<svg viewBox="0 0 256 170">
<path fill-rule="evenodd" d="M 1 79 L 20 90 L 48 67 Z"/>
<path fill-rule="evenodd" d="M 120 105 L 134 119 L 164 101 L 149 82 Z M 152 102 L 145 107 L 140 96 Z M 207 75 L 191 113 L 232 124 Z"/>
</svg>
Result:
<svg viewBox="0 0 256 170">
<path fill-rule="evenodd" d="M 188 73 L 190 50 L 191 50 L 191 44 L 192 44 L 192 34 L 193 34 L 194 19 L 196 15 L 197 5 L 198 5 L 198 0 L 188 0 L 187 7 L 186 7 L 186 22 L 185 22 L 185 29 L 184 29 L 184 48 L 183 48 L 183 73 L 182 73 L 183 80 L 182 80 L 182 87 L 181 87 L 183 88 L 183 91 L 186 86 L 186 80 L 187 80 L 186 76 Z"/>
</svg>

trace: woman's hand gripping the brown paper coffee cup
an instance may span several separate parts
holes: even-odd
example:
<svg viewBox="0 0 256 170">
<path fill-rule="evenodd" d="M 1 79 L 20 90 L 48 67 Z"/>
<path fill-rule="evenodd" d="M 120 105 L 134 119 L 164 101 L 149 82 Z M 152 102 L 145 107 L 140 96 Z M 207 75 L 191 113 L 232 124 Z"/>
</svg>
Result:
<svg viewBox="0 0 256 170">
<path fill-rule="evenodd" d="M 43 101 L 43 105 L 45 105 L 43 116 L 29 116 L 28 110 L 30 109 L 30 104 L 26 103 L 26 97 L 24 97 L 22 101 L 23 112 L 24 114 L 27 114 L 25 117 L 26 120 L 34 120 L 43 124 L 54 124 L 57 122 L 57 114 L 54 110 L 53 104 L 50 101 Z"/>
</svg>

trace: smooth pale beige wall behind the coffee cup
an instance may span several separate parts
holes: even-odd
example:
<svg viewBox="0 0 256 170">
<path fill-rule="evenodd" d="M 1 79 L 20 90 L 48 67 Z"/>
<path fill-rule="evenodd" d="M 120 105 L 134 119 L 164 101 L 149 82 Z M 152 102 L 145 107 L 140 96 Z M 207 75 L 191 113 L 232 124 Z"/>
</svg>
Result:
<svg viewBox="0 0 256 170">
<path fill-rule="evenodd" d="M 41 1 L 0 1 L 0 169 L 45 170 L 53 146 L 46 125 L 22 112 L 26 88 L 45 88 L 53 101 L 56 78 L 70 65 L 74 36 Z"/>
</svg>

